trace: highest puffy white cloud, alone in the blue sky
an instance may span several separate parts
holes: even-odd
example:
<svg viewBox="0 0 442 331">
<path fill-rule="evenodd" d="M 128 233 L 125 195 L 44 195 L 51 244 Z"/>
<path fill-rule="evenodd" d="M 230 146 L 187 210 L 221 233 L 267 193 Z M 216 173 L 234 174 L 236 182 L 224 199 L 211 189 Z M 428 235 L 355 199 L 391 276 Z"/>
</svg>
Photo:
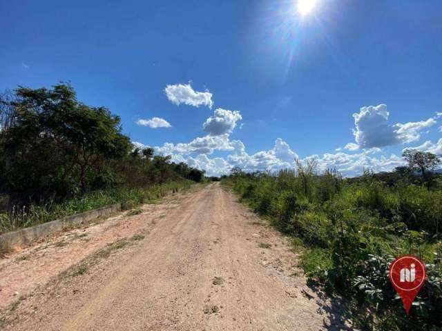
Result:
<svg viewBox="0 0 442 331">
<path fill-rule="evenodd" d="M 204 105 L 212 108 L 213 106 L 211 92 L 207 90 L 206 92 L 196 92 L 190 83 L 168 85 L 164 92 L 166 92 L 167 99 L 177 106 L 180 106 L 181 103 L 194 107 Z"/>
</svg>

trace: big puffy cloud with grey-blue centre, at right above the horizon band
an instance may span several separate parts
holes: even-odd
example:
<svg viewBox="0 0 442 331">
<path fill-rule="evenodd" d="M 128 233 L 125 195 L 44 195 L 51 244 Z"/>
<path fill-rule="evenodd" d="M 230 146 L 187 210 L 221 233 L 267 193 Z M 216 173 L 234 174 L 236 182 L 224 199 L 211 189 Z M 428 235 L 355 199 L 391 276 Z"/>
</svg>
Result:
<svg viewBox="0 0 442 331">
<path fill-rule="evenodd" d="M 384 104 L 362 107 L 358 113 L 353 114 L 353 117 L 356 126 L 353 134 L 359 148 L 384 147 L 418 141 L 421 131 L 436 123 L 436 119 L 430 117 L 426 121 L 397 123 L 392 126 L 388 123 L 390 112 Z"/>
</svg>

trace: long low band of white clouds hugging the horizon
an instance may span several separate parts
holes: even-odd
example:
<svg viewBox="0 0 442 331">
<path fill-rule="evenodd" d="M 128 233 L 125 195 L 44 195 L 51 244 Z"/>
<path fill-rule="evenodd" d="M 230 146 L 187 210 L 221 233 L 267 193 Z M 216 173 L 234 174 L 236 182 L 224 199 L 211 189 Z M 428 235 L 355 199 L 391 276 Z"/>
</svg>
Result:
<svg viewBox="0 0 442 331">
<path fill-rule="evenodd" d="M 146 147 L 141 143 L 133 143 L 137 147 Z M 436 147 L 439 146 L 439 147 Z M 442 139 L 438 144 L 427 145 L 428 150 L 436 151 L 436 148 L 442 149 Z M 215 150 L 229 151 L 226 158 L 214 157 L 208 155 Z M 190 143 L 164 143 L 161 147 L 155 147 L 157 154 L 171 155 L 172 161 L 185 162 L 191 167 L 206 170 L 208 176 L 220 176 L 229 174 L 231 168 L 239 166 L 245 172 L 255 171 L 278 171 L 282 169 L 294 169 L 295 158 L 298 154 L 291 149 L 289 144 L 278 138 L 271 150 L 261 150 L 255 154 L 247 154 L 244 143 L 240 140 L 229 140 L 228 134 L 221 136 L 205 136 L 193 139 Z M 375 172 L 390 171 L 398 165 L 404 165 L 405 161 L 392 154 L 385 156 L 379 148 L 369 148 L 356 154 L 347 154 L 345 152 L 325 153 L 323 156 L 310 155 L 301 162 L 308 159 L 318 161 L 318 171 L 322 172 L 327 168 L 336 168 L 345 177 L 352 177 L 361 174 L 364 169 L 370 169 Z"/>
</svg>

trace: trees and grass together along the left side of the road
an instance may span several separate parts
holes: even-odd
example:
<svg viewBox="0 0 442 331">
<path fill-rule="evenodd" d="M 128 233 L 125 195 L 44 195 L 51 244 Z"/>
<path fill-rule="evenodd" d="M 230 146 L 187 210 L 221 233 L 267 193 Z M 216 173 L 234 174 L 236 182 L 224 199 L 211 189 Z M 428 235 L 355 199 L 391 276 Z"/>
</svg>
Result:
<svg viewBox="0 0 442 331">
<path fill-rule="evenodd" d="M 204 180 L 133 146 L 119 117 L 69 84 L 0 95 L 0 234 L 112 203 L 133 209 Z"/>
</svg>

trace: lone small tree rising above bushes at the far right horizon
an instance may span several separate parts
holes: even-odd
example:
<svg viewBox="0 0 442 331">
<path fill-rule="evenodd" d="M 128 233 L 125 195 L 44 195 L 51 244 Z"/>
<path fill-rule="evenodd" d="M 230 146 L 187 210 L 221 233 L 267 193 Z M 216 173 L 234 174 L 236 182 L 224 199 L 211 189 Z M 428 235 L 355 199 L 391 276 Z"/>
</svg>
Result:
<svg viewBox="0 0 442 331">
<path fill-rule="evenodd" d="M 427 188 L 430 189 L 432 181 L 431 171 L 441 162 L 439 157 L 430 152 L 413 149 L 404 150 L 402 157 L 407 161 L 410 169 L 421 172 L 423 181 L 426 181 Z"/>
</svg>

